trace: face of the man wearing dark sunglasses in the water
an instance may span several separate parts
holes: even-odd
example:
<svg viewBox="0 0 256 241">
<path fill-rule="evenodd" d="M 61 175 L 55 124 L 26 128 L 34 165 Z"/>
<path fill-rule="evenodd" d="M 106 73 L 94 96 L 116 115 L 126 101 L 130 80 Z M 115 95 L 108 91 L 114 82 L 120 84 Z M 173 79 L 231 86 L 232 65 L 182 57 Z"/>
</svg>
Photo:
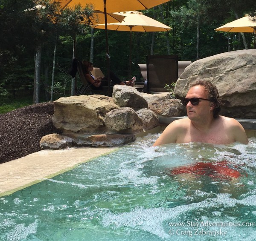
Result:
<svg viewBox="0 0 256 241">
<path fill-rule="evenodd" d="M 204 86 L 197 85 L 189 89 L 186 98 L 204 98 L 209 99 L 205 92 Z M 199 100 L 198 105 L 193 106 L 191 102 L 186 105 L 186 111 L 190 120 L 203 120 L 204 118 L 210 117 L 211 110 L 213 109 L 212 102 L 208 100 Z"/>
</svg>

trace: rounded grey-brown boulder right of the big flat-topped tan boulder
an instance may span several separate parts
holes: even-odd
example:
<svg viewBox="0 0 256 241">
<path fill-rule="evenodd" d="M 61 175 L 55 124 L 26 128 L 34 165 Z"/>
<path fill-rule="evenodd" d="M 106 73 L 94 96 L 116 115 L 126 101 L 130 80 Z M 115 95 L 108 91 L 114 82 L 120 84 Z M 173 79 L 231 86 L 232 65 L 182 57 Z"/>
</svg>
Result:
<svg viewBox="0 0 256 241">
<path fill-rule="evenodd" d="M 140 132 L 143 130 L 143 120 L 129 108 L 113 109 L 105 115 L 108 131 L 113 133 Z"/>
</svg>

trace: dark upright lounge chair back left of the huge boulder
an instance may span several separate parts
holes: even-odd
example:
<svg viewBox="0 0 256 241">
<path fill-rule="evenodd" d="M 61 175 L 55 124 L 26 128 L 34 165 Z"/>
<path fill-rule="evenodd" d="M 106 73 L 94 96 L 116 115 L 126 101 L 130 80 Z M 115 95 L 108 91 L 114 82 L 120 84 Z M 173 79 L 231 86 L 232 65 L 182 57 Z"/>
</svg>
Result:
<svg viewBox="0 0 256 241">
<path fill-rule="evenodd" d="M 168 92 L 165 85 L 175 83 L 177 79 L 177 55 L 147 56 L 147 93 Z"/>
</svg>

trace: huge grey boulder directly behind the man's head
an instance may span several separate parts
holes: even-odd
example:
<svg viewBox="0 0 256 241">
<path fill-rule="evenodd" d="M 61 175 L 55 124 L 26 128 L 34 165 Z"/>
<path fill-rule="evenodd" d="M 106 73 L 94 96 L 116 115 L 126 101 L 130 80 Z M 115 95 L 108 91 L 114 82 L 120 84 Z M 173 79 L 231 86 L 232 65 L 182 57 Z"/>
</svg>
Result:
<svg viewBox="0 0 256 241">
<path fill-rule="evenodd" d="M 256 49 L 226 52 L 189 65 L 175 86 L 175 96 L 184 98 L 189 83 L 209 80 L 223 101 L 221 114 L 233 118 L 256 118 Z"/>
</svg>

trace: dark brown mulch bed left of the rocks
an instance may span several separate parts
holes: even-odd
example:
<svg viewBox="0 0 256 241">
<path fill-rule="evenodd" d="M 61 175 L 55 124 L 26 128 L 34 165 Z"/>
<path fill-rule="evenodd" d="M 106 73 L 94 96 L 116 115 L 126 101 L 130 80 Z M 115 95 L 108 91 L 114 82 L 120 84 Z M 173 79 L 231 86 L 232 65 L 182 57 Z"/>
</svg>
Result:
<svg viewBox="0 0 256 241">
<path fill-rule="evenodd" d="M 0 163 L 40 150 L 40 140 L 61 133 L 52 124 L 52 102 L 38 103 L 0 115 Z"/>
</svg>

